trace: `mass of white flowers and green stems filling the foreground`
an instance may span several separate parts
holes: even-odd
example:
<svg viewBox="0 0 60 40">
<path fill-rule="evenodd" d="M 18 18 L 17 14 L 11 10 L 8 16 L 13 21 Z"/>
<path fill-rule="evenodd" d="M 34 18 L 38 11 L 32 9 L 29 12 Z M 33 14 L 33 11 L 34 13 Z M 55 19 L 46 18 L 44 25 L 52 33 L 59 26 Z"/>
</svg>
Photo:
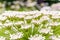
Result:
<svg viewBox="0 0 60 40">
<path fill-rule="evenodd" d="M 59 35 L 59 11 L 5 11 L 0 15 L 0 40 L 60 40 Z"/>
</svg>

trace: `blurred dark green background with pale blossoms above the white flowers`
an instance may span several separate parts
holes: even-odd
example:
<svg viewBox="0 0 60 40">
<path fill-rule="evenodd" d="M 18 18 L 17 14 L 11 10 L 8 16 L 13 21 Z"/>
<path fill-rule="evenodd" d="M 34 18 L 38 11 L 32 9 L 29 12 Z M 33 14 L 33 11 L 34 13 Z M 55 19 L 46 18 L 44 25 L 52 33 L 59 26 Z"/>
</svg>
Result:
<svg viewBox="0 0 60 40">
<path fill-rule="evenodd" d="M 44 6 L 59 2 L 60 0 L 0 0 L 0 8 L 15 11 L 40 10 Z"/>
</svg>

